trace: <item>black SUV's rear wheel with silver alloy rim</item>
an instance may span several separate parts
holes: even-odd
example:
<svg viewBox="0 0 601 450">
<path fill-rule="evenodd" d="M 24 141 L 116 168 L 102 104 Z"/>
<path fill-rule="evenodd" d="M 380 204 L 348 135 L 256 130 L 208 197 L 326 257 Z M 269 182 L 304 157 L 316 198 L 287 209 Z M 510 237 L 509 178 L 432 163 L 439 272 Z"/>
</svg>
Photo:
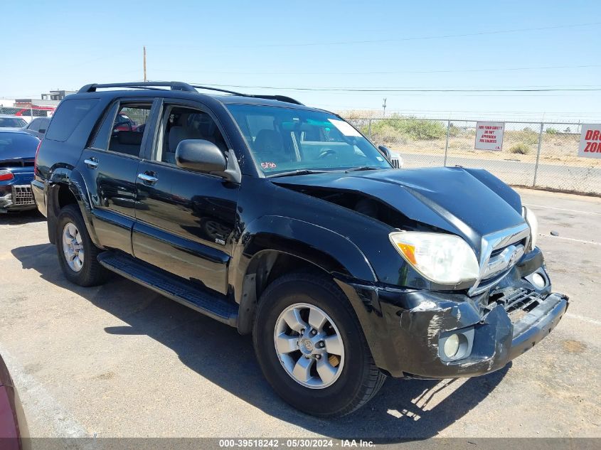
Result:
<svg viewBox="0 0 601 450">
<path fill-rule="evenodd" d="M 66 205 L 60 210 L 55 233 L 58 260 L 65 277 L 80 286 L 102 284 L 107 270 L 98 262 L 100 249 L 90 239 L 77 205 Z"/>
</svg>

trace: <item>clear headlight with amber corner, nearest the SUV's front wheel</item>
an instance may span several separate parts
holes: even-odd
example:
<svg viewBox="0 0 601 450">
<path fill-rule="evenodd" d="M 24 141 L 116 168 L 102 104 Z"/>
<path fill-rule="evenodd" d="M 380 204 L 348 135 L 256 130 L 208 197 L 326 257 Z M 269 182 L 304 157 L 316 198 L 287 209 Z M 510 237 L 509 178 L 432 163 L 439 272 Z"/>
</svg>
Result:
<svg viewBox="0 0 601 450">
<path fill-rule="evenodd" d="M 417 272 L 432 282 L 458 284 L 474 281 L 480 268 L 474 250 L 456 235 L 399 231 L 390 241 Z"/>
</svg>

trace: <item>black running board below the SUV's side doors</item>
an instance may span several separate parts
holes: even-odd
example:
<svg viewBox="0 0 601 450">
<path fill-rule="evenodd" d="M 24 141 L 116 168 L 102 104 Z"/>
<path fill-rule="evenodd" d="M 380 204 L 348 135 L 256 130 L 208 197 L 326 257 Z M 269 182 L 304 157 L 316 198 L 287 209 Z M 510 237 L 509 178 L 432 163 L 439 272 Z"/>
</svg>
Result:
<svg viewBox="0 0 601 450">
<path fill-rule="evenodd" d="M 112 272 L 206 316 L 233 327 L 238 326 L 238 305 L 225 299 L 225 296 L 199 289 L 164 270 L 120 253 L 102 252 L 98 255 L 98 262 Z"/>
</svg>

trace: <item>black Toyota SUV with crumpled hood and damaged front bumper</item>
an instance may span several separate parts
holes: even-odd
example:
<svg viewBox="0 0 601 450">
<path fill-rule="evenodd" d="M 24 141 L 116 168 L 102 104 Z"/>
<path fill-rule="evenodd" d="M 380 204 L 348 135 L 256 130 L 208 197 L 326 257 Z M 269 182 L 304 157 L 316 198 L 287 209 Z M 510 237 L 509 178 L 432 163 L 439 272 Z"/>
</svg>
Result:
<svg viewBox="0 0 601 450">
<path fill-rule="evenodd" d="M 32 187 L 71 282 L 108 269 L 252 333 L 274 390 L 322 417 L 387 375 L 498 370 L 563 316 L 536 218 L 490 173 L 395 169 L 336 114 L 198 90 L 60 103 Z"/>
</svg>

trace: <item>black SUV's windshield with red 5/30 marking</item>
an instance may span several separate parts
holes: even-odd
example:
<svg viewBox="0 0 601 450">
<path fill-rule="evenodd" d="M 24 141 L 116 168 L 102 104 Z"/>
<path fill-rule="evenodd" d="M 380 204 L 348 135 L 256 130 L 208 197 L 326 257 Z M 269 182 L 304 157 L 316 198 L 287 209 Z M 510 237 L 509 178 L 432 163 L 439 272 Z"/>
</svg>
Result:
<svg viewBox="0 0 601 450">
<path fill-rule="evenodd" d="M 390 168 L 380 151 L 334 114 L 228 105 L 265 175 L 358 167 Z"/>
</svg>

